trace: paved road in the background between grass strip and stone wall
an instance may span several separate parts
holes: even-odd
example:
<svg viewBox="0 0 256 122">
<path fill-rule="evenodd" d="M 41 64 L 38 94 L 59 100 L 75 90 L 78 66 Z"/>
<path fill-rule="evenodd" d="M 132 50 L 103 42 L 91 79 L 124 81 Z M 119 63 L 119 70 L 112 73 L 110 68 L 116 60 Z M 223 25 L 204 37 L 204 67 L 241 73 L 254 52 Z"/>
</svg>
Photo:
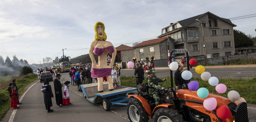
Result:
<svg viewBox="0 0 256 122">
<path fill-rule="evenodd" d="M 155 69 L 158 77 L 170 77 L 170 69 Z M 200 77 L 201 74 L 195 72 L 195 68 L 190 69 L 193 77 Z M 206 68 L 205 71 L 211 73 L 217 78 L 253 78 L 256 77 L 256 68 Z M 175 71 L 172 71 L 174 76 Z M 121 74 L 125 76 L 134 76 L 134 70 L 121 70 Z M 144 74 L 146 76 L 146 74 Z"/>
</svg>

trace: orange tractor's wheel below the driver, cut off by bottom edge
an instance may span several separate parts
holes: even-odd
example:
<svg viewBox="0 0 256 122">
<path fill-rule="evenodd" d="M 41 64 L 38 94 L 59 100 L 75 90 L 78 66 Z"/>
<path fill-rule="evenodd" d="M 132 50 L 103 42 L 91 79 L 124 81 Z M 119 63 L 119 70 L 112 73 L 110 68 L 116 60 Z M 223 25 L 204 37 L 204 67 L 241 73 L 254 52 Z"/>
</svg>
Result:
<svg viewBox="0 0 256 122">
<path fill-rule="evenodd" d="M 160 108 L 155 112 L 154 115 L 154 122 L 183 122 L 184 119 L 182 115 L 178 113 L 177 110 L 170 109 L 170 108 Z"/>
</svg>

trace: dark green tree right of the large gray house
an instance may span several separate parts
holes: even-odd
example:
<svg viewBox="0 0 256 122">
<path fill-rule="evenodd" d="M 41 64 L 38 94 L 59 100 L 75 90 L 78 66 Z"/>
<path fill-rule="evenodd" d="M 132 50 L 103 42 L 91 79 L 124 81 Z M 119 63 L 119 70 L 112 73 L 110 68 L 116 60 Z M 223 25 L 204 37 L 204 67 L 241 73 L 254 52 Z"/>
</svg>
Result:
<svg viewBox="0 0 256 122">
<path fill-rule="evenodd" d="M 236 29 L 234 29 L 234 42 L 235 42 L 235 48 L 248 47 L 254 44 L 250 37 L 248 37 L 245 33 Z"/>
</svg>

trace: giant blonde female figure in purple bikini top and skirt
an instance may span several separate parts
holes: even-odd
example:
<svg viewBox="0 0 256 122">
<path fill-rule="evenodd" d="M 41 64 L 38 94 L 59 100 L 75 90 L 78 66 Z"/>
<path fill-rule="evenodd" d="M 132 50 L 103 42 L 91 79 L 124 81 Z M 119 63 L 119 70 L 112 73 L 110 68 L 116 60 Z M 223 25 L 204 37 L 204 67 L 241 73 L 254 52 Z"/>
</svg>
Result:
<svg viewBox="0 0 256 122">
<path fill-rule="evenodd" d="M 102 22 L 97 22 L 94 26 L 95 30 L 95 40 L 92 41 L 89 54 L 92 60 L 92 77 L 97 77 L 98 79 L 98 91 L 103 92 L 103 77 L 106 76 L 109 90 L 113 90 L 113 83 L 111 77 L 111 69 L 116 57 L 116 48 L 112 45 L 111 42 L 106 41 L 107 35 L 105 33 L 105 26 Z M 96 55 L 99 56 L 99 64 L 96 64 L 93 51 Z M 110 65 L 107 65 L 107 55 L 108 53 L 112 54 L 112 59 Z"/>
</svg>

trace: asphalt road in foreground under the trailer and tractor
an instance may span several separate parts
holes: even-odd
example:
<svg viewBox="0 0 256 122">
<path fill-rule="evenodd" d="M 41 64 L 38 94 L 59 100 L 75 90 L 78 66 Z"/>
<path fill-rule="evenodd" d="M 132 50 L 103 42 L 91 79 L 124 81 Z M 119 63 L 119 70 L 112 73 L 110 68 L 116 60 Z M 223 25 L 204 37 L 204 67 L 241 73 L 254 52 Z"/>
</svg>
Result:
<svg viewBox="0 0 256 122">
<path fill-rule="evenodd" d="M 123 72 L 122 72 L 123 73 Z M 68 73 L 61 74 L 61 80 L 70 80 Z M 35 84 L 34 84 L 35 83 Z M 34 85 L 33 85 L 34 84 Z M 57 107 L 55 98 L 52 99 L 54 110 L 52 113 L 47 113 L 44 106 L 43 93 L 40 91 L 43 83 L 34 81 L 29 84 L 25 89 L 32 86 L 25 96 L 22 98 L 22 105 L 17 109 L 13 121 L 27 122 L 27 121 L 129 121 L 127 116 L 126 106 L 114 105 L 111 106 L 111 111 L 105 111 L 102 104 L 92 104 L 83 97 L 82 92 L 77 91 L 76 86 L 70 86 L 70 102 L 74 105 L 70 107 L 62 106 Z M 53 89 L 53 82 L 50 82 Z M 124 88 L 125 86 L 120 86 Z M 14 109 L 10 109 L 2 121 L 9 121 Z M 256 122 L 256 105 L 248 104 L 248 112 L 250 122 Z M 153 121 L 150 119 L 149 121 Z"/>
</svg>

